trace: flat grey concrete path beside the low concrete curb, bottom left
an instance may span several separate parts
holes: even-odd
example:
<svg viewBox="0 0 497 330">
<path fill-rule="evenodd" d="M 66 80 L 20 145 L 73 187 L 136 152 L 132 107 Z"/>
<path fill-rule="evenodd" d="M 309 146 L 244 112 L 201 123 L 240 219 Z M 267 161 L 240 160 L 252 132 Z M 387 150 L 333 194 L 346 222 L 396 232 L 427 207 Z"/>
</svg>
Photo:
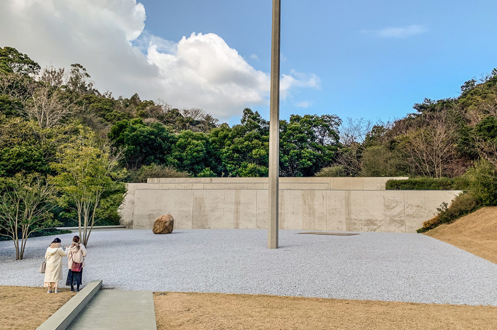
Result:
<svg viewBox="0 0 497 330">
<path fill-rule="evenodd" d="M 100 290 L 67 330 L 157 330 L 149 291 Z"/>
</svg>

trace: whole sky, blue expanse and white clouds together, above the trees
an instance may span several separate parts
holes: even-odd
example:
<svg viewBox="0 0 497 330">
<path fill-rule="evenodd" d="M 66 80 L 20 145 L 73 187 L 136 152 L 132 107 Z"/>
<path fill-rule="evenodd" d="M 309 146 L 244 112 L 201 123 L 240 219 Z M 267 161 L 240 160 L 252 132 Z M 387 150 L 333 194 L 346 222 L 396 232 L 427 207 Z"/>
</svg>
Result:
<svg viewBox="0 0 497 330">
<path fill-rule="evenodd" d="M 497 67 L 496 12 L 490 0 L 283 0 L 280 117 L 388 121 L 457 96 Z M 270 30 L 270 0 L 0 3 L 0 46 L 231 125 L 245 107 L 268 118 Z"/>
</svg>

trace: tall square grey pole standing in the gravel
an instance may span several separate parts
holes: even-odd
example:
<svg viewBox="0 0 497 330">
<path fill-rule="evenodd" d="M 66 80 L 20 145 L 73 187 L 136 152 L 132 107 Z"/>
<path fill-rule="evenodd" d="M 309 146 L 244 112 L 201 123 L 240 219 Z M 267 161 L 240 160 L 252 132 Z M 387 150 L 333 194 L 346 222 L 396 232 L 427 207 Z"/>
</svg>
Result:
<svg viewBox="0 0 497 330">
<path fill-rule="evenodd" d="M 273 0 L 273 27 L 271 39 L 271 105 L 269 108 L 268 249 L 278 248 L 280 9 L 281 0 Z"/>
</svg>

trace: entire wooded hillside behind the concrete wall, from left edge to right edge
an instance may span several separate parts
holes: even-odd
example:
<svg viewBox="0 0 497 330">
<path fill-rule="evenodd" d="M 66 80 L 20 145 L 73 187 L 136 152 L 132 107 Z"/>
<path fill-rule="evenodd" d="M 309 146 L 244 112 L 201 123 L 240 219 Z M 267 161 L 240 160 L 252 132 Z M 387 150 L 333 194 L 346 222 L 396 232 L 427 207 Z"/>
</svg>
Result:
<svg viewBox="0 0 497 330">
<path fill-rule="evenodd" d="M 280 175 L 454 178 L 485 169 L 492 177 L 497 69 L 461 91 L 425 99 L 387 124 L 292 115 L 280 121 Z M 268 122 L 248 108 L 230 127 L 201 109 L 102 93 L 80 64 L 69 72 L 41 68 L 14 48 L 0 48 L 3 223 L 29 202 L 36 205 L 31 220 L 16 215 L 27 222 L 116 223 L 124 182 L 147 177 L 267 176 L 268 140 Z"/>
</svg>

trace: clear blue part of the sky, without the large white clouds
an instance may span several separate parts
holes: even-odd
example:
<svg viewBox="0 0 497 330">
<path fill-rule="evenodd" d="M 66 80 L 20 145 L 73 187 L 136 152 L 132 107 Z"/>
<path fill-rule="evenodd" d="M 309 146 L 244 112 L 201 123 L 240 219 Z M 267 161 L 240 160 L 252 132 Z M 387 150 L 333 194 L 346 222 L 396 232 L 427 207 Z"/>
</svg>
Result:
<svg viewBox="0 0 497 330">
<path fill-rule="evenodd" d="M 251 66 L 269 71 L 271 1 L 141 2 L 153 34 L 179 40 L 193 31 L 213 32 Z M 295 92 L 294 101 L 310 105 L 299 108 L 287 100 L 280 116 L 388 120 L 413 112 L 425 97 L 457 96 L 464 81 L 497 67 L 496 12 L 497 2 L 489 0 L 283 0 L 281 72 L 315 73 L 321 86 Z M 413 25 L 420 28 L 412 35 L 378 35 Z M 252 108 L 267 116 L 267 106 Z"/>
</svg>

